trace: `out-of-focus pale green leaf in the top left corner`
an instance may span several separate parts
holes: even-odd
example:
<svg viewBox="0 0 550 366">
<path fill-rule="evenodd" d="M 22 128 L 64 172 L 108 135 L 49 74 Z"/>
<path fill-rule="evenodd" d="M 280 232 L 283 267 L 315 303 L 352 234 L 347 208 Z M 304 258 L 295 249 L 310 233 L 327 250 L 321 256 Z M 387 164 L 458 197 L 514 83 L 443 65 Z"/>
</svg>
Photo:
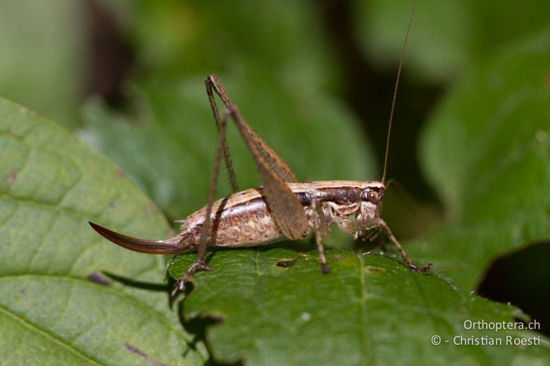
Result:
<svg viewBox="0 0 550 366">
<path fill-rule="evenodd" d="M 78 125 L 91 62 L 85 8 L 72 0 L 1 2 L 0 95 Z"/>
</svg>

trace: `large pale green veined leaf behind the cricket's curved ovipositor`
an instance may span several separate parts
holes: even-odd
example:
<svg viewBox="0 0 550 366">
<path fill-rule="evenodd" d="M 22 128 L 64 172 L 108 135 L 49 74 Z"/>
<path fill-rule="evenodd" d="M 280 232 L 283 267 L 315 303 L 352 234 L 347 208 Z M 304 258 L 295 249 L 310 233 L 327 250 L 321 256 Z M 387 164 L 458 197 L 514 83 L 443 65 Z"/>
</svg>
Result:
<svg viewBox="0 0 550 366">
<path fill-rule="evenodd" d="M 168 235 L 162 214 L 120 169 L 64 128 L 0 100 L 0 177 L 3 363 L 205 360 L 168 308 L 164 260 L 119 248 L 87 223 Z"/>
</svg>

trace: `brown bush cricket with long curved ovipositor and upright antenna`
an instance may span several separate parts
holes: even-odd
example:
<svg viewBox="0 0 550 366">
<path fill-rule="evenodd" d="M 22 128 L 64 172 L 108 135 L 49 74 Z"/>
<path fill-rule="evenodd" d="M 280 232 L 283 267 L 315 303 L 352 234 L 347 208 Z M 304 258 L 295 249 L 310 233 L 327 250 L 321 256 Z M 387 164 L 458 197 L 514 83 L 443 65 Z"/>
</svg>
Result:
<svg viewBox="0 0 550 366">
<path fill-rule="evenodd" d="M 229 98 L 219 78 L 214 74 L 205 80 L 206 93 L 216 122 L 218 138 L 214 154 L 214 166 L 208 204 L 190 214 L 181 224 L 179 234 L 166 240 L 143 240 L 124 236 L 89 222 L 101 236 L 126 249 L 141 253 L 168 254 L 198 251 L 197 261 L 177 281 L 172 291 L 184 290 L 190 277 L 199 269 L 211 269 L 205 262 L 207 247 L 252 247 L 279 240 L 299 240 L 313 234 L 315 237 L 320 268 L 329 273 L 322 237 L 330 233 L 330 225 L 352 233 L 357 239 L 373 239 L 382 233 L 399 251 L 408 268 L 424 273 L 427 266 L 415 266 L 410 262 L 401 244 L 397 242 L 386 222 L 380 218 L 382 198 L 386 186 L 386 166 L 391 122 L 399 85 L 401 66 L 415 12 L 412 7 L 406 37 L 401 50 L 401 60 L 393 92 L 391 113 L 388 122 L 386 154 L 382 181 L 314 181 L 299 183 L 288 165 L 246 124 L 239 109 Z M 223 102 L 219 111 L 214 93 Z M 232 161 L 225 139 L 225 127 L 232 119 L 254 159 L 263 186 L 239 192 Z M 233 194 L 214 201 L 221 156 L 228 168 Z M 349 216 L 355 220 L 349 220 Z"/>
</svg>

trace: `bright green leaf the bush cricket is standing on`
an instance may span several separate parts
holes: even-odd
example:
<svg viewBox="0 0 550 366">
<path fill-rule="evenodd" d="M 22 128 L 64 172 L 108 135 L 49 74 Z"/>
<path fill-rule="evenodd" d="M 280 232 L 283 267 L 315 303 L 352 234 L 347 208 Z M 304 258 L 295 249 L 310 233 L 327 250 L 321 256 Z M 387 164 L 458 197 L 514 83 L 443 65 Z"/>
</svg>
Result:
<svg viewBox="0 0 550 366">
<path fill-rule="evenodd" d="M 219 319 L 207 330 L 214 358 L 251 365 L 548 364 L 550 347 L 540 334 L 464 325 L 525 319 L 513 306 L 409 271 L 387 256 L 344 250 L 327 255 L 331 273 L 324 275 L 316 251 L 216 251 L 209 262 L 214 269 L 192 279 L 184 316 Z M 179 277 L 194 260 L 175 258 L 170 275 Z M 443 343 L 432 345 L 432 336 Z M 507 336 L 535 337 L 541 345 L 461 347 L 452 344 L 456 336 L 503 342 Z"/>
</svg>

